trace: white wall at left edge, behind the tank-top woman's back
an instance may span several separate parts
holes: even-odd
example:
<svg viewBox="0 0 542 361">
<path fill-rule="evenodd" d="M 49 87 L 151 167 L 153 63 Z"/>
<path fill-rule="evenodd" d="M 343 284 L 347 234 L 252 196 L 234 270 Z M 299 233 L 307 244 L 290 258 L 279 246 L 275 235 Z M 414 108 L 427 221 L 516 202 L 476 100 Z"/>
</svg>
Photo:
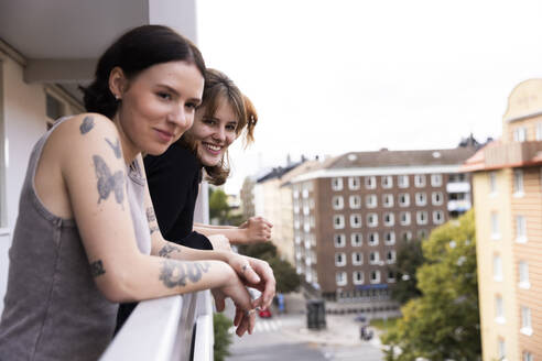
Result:
<svg viewBox="0 0 542 361">
<path fill-rule="evenodd" d="M 42 85 L 23 81 L 23 68 L 11 58 L 1 57 L 3 120 L 7 154 L 4 164 L 4 194 L 7 223 L 0 233 L 0 313 L 3 309 L 3 295 L 8 277 L 8 250 L 11 233 L 15 226 L 19 195 L 24 180 L 32 146 L 46 130 L 45 91 Z"/>
</svg>

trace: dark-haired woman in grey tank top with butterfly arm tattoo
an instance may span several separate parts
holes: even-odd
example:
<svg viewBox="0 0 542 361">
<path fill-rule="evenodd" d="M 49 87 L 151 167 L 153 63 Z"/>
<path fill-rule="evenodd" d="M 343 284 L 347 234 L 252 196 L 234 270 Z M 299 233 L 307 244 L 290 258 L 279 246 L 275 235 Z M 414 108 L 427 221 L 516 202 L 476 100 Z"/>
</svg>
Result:
<svg viewBox="0 0 542 361">
<path fill-rule="evenodd" d="M 269 265 L 165 241 L 141 153 L 159 155 L 192 125 L 205 64 L 172 30 L 145 25 L 101 56 L 88 113 L 59 120 L 34 146 L 12 247 L 0 360 L 96 360 L 120 302 L 213 289 L 251 331 L 274 295 Z M 68 150 L 66 152 L 66 150 Z M 263 291 L 250 300 L 246 286 Z"/>
</svg>

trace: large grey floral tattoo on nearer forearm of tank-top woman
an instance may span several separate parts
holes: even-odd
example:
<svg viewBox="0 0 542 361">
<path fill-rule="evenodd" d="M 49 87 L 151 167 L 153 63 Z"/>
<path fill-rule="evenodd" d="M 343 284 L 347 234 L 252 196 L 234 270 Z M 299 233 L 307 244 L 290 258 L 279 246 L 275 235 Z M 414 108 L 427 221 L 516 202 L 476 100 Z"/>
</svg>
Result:
<svg viewBox="0 0 542 361">
<path fill-rule="evenodd" d="M 196 283 L 202 280 L 203 273 L 209 271 L 208 262 L 189 262 L 182 263 L 178 261 L 166 260 L 162 263 L 160 281 L 167 287 L 186 286 L 186 278 Z"/>
</svg>

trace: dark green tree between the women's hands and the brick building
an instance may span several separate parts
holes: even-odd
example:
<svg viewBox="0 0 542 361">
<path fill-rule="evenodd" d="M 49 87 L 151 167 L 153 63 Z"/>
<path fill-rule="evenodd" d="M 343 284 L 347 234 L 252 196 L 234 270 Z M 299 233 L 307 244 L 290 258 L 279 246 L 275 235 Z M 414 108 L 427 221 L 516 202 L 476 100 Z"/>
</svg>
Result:
<svg viewBox="0 0 542 361">
<path fill-rule="evenodd" d="M 297 289 L 300 286 L 300 275 L 288 261 L 280 259 L 277 252 L 277 245 L 273 243 L 264 242 L 240 245 L 239 253 L 269 262 L 269 265 L 273 269 L 278 292 L 289 293 Z"/>
</svg>

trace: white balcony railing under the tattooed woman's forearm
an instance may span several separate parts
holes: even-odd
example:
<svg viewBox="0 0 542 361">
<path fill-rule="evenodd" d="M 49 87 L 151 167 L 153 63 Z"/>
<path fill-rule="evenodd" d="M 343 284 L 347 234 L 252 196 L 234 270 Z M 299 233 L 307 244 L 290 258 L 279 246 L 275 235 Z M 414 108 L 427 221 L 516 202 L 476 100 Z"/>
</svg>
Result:
<svg viewBox="0 0 542 361">
<path fill-rule="evenodd" d="M 202 291 L 141 302 L 100 361 L 212 361 L 214 342 L 210 292 Z"/>
</svg>

